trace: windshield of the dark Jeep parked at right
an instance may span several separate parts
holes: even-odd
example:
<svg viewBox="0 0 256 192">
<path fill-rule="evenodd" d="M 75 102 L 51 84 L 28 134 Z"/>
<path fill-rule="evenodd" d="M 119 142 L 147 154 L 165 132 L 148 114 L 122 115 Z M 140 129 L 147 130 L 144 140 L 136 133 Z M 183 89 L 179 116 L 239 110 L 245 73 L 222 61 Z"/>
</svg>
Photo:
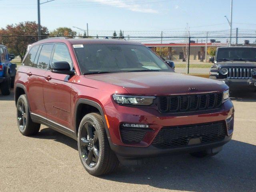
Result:
<svg viewBox="0 0 256 192">
<path fill-rule="evenodd" d="M 216 61 L 256 61 L 256 48 L 218 48 Z"/>
</svg>

